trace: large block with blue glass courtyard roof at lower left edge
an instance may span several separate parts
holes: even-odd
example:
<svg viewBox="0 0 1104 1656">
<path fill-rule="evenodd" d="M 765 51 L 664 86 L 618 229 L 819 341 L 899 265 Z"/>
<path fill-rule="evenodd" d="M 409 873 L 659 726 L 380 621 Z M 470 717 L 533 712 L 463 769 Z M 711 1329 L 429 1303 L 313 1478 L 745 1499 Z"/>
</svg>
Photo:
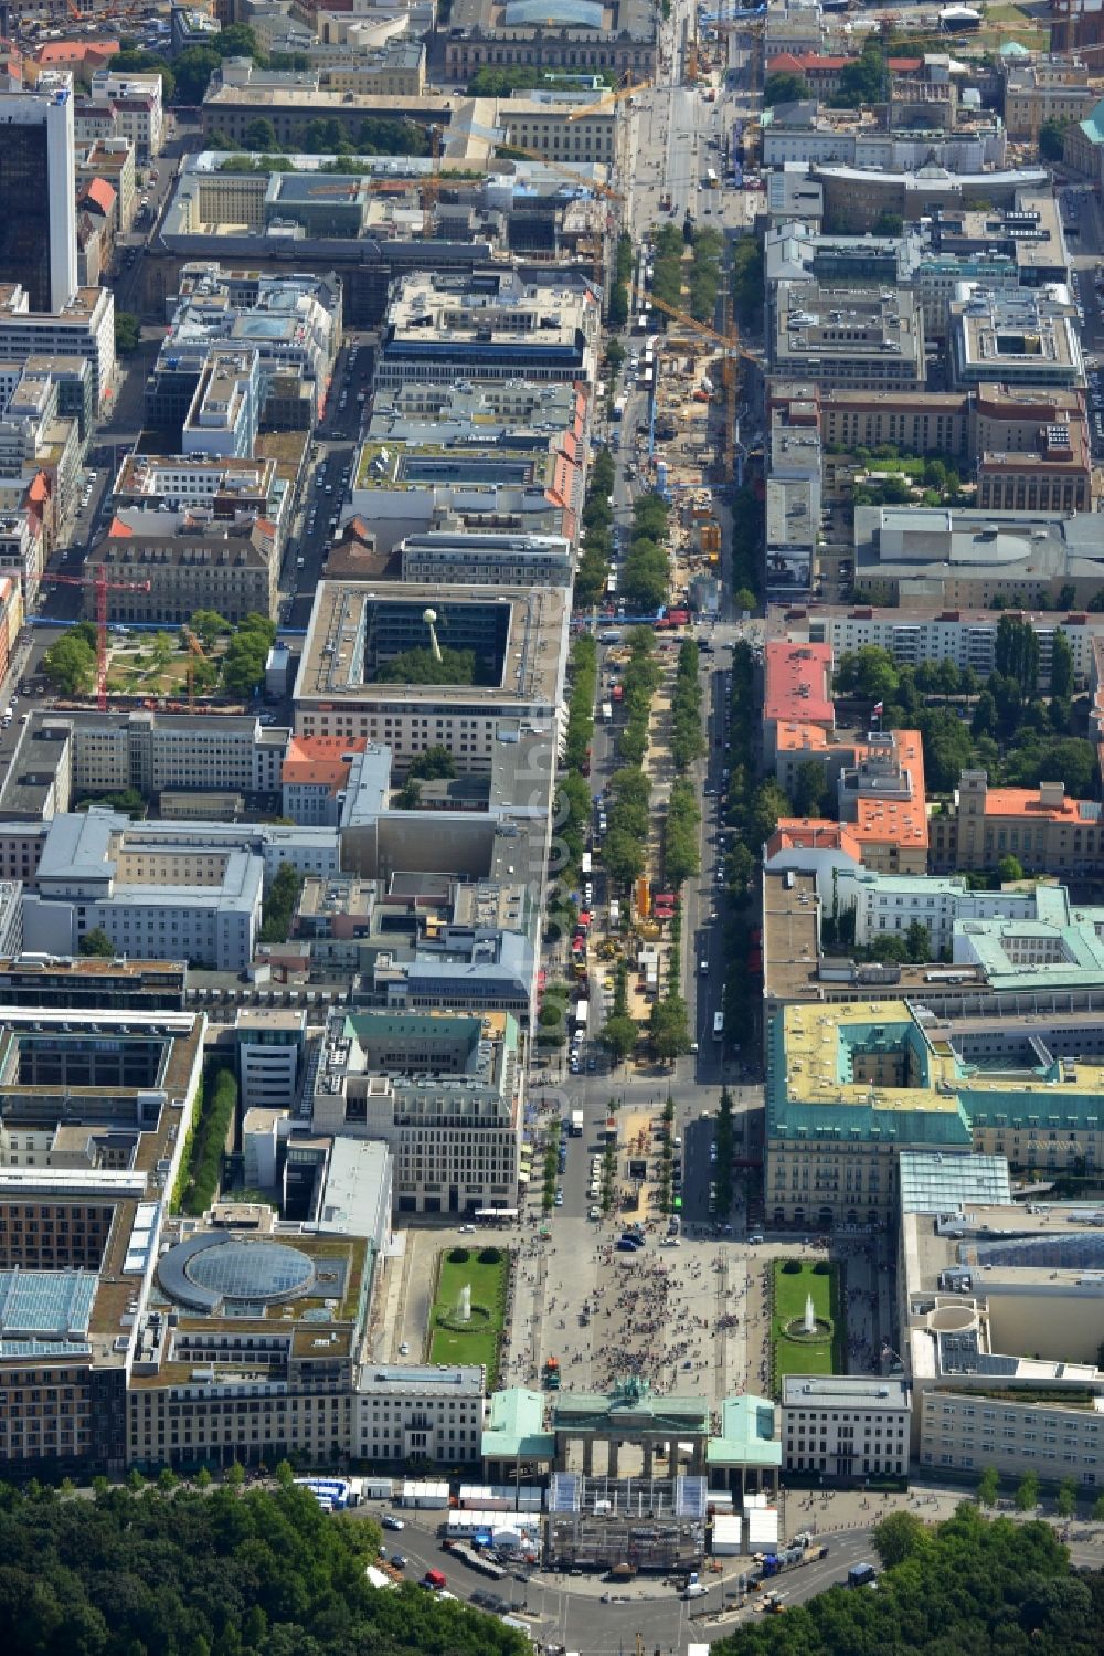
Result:
<svg viewBox="0 0 1104 1656">
<path fill-rule="evenodd" d="M 0 1459 L 119 1477 L 204 1018 L 5 1007 L 0 1025 Z"/>
</svg>

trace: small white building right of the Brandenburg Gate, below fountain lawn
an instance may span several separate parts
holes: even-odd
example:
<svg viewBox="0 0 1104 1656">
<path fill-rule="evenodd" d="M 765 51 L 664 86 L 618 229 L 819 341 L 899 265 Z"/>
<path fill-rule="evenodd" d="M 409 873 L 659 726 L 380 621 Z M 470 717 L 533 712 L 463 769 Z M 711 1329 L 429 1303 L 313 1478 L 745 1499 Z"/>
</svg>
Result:
<svg viewBox="0 0 1104 1656">
<path fill-rule="evenodd" d="M 912 1388 L 866 1374 L 783 1374 L 783 1466 L 826 1479 L 907 1477 Z"/>
</svg>

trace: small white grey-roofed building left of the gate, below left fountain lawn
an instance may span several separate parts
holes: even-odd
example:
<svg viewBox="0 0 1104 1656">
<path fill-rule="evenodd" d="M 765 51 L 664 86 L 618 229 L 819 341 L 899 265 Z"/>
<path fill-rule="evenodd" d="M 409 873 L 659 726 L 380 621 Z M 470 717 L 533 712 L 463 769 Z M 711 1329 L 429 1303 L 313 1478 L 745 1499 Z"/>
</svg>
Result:
<svg viewBox="0 0 1104 1656">
<path fill-rule="evenodd" d="M 353 1454 L 470 1466 L 482 1457 L 483 1399 L 480 1365 L 367 1363 L 356 1383 Z"/>
</svg>

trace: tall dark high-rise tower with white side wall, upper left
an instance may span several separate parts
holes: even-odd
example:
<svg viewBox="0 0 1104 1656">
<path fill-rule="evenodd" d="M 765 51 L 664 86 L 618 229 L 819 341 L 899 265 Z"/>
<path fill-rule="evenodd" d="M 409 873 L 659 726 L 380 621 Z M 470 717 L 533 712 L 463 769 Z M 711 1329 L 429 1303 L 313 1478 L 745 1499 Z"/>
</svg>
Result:
<svg viewBox="0 0 1104 1656">
<path fill-rule="evenodd" d="M 76 293 L 71 78 L 0 93 L 0 283 L 18 283 L 33 311 L 60 311 Z"/>
</svg>

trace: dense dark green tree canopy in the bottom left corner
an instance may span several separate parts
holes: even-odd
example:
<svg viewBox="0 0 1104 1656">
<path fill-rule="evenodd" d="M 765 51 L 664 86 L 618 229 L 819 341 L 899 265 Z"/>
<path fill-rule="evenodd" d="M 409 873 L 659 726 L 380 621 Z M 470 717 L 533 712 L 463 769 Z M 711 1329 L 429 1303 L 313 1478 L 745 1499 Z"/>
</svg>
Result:
<svg viewBox="0 0 1104 1656">
<path fill-rule="evenodd" d="M 493 1616 L 414 1583 L 369 1586 L 371 1522 L 303 1489 L 0 1489 L 0 1616 L 8 1656 L 521 1656 Z"/>
</svg>

